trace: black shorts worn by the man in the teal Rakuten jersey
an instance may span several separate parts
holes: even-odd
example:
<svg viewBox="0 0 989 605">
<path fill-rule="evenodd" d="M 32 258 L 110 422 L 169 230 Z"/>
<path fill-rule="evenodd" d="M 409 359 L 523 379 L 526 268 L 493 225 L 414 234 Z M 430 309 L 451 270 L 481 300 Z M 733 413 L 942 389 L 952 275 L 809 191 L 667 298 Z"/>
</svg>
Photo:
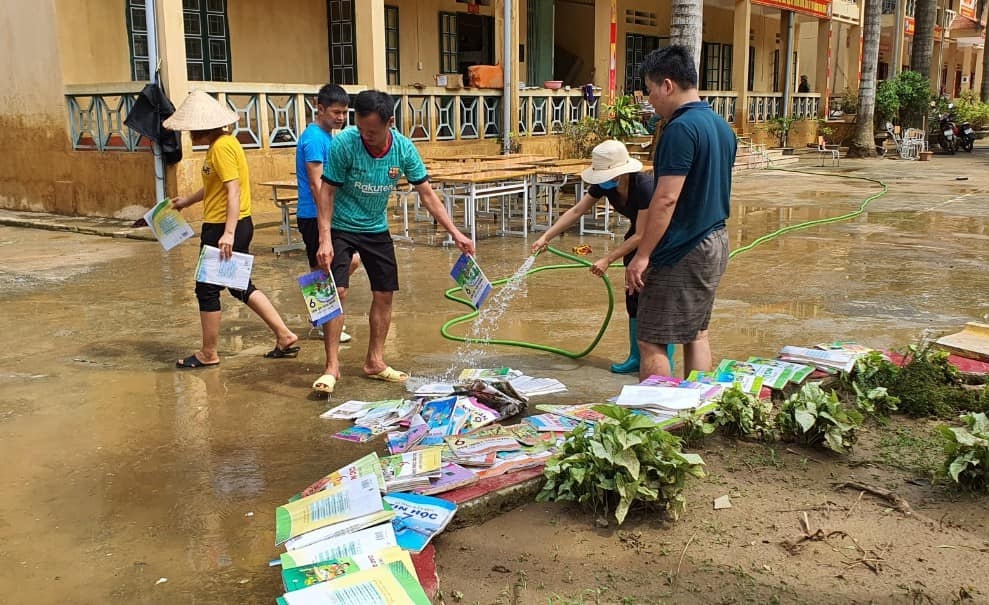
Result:
<svg viewBox="0 0 989 605">
<path fill-rule="evenodd" d="M 338 288 L 350 287 L 350 262 L 354 253 L 361 255 L 361 264 L 367 271 L 373 292 L 398 290 L 398 262 L 395 260 L 395 243 L 391 233 L 351 233 L 332 231 L 333 262 L 330 270 Z"/>
</svg>

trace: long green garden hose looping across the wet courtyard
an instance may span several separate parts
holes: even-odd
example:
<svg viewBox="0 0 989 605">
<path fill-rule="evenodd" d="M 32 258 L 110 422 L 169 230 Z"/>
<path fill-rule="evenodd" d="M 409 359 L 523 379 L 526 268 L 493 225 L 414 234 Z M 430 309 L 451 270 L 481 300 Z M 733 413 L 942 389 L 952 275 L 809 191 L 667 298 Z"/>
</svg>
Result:
<svg viewBox="0 0 989 605">
<path fill-rule="evenodd" d="M 763 235 L 761 237 L 758 237 L 758 238 L 754 239 L 753 241 L 749 242 L 748 244 L 732 250 L 731 253 L 729 253 L 729 255 L 728 255 L 728 258 L 729 259 L 735 258 L 736 256 L 738 256 L 739 254 L 742 254 L 743 252 L 748 252 L 749 250 L 752 250 L 756 246 L 759 246 L 759 245 L 764 244 L 764 243 L 766 243 L 768 241 L 771 241 L 773 239 L 776 239 L 777 237 L 780 237 L 781 235 L 784 235 L 786 233 L 790 233 L 791 231 L 798 231 L 798 230 L 801 230 L 801 229 L 809 229 L 810 227 L 816 227 L 816 226 L 819 226 L 819 225 L 827 225 L 827 224 L 830 224 L 830 223 L 837 223 L 837 222 L 847 221 L 849 219 L 855 218 L 856 216 L 859 216 L 860 214 L 862 214 L 863 212 L 865 212 L 865 210 L 869 206 L 869 204 L 871 204 L 872 202 L 874 202 L 877 199 L 881 198 L 882 196 L 886 195 L 886 192 L 889 190 L 889 187 L 886 185 L 886 183 L 884 183 L 884 182 L 882 182 L 882 181 L 880 181 L 878 179 L 872 179 L 872 178 L 868 178 L 868 177 L 852 176 L 852 175 L 846 175 L 846 174 L 821 174 L 819 172 L 810 172 L 810 171 L 806 171 L 806 170 L 790 170 L 790 169 L 785 169 L 785 168 L 772 168 L 771 170 L 777 170 L 779 172 L 793 172 L 793 173 L 796 173 L 796 174 L 810 174 L 810 175 L 814 175 L 814 176 L 833 176 L 833 177 L 836 177 L 836 178 L 866 181 L 866 182 L 869 182 L 869 183 L 875 183 L 875 184 L 879 185 L 880 191 L 878 191 L 877 193 L 874 193 L 874 194 L 870 195 L 869 197 L 865 198 L 864 200 L 862 200 L 862 203 L 859 205 L 858 209 L 857 210 L 853 210 L 852 212 L 847 212 L 845 214 L 842 214 L 842 215 L 839 215 L 839 216 L 830 217 L 830 218 L 821 218 L 821 219 L 815 219 L 815 220 L 812 220 L 812 221 L 804 221 L 802 223 L 796 223 L 794 225 L 788 225 L 786 227 L 781 227 L 781 228 L 777 229 L 776 231 L 773 231 L 772 233 L 767 233 L 766 235 Z M 552 252 L 553 254 L 556 254 L 557 256 L 563 257 L 563 258 L 565 258 L 567 260 L 570 260 L 572 262 L 571 263 L 568 263 L 568 264 L 545 265 L 545 266 L 542 266 L 542 267 L 534 267 L 534 268 L 529 269 L 528 271 L 526 271 L 526 277 L 528 277 L 530 275 L 533 275 L 533 274 L 536 274 L 536 273 L 539 273 L 541 271 L 555 271 L 557 269 L 587 269 L 588 267 L 590 267 L 593 264 L 590 261 L 587 261 L 587 260 L 585 260 L 583 258 L 580 258 L 579 256 L 575 256 L 575 255 L 572 255 L 572 254 L 567 254 L 566 252 L 563 252 L 562 250 L 558 250 L 558 249 L 554 248 L 553 246 L 548 246 L 547 249 L 550 252 Z M 621 263 L 615 263 L 615 264 L 613 264 L 611 266 L 612 267 L 621 267 L 622 264 Z M 497 279 L 497 280 L 491 282 L 491 285 L 492 286 L 500 286 L 502 284 L 507 283 L 509 279 L 511 279 L 511 278 L 505 277 L 505 278 L 502 278 L 502 279 Z M 568 351 L 567 349 L 561 349 L 559 347 L 553 347 L 553 346 L 549 346 L 549 345 L 542 345 L 542 344 L 533 343 L 533 342 L 526 342 L 526 341 L 522 341 L 522 340 L 508 340 L 508 339 L 502 339 L 502 338 L 468 339 L 468 338 L 466 338 L 464 336 L 455 336 L 453 334 L 450 334 L 450 328 L 452 328 L 454 326 L 457 326 L 457 325 L 460 325 L 462 323 L 468 322 L 468 321 L 474 319 L 475 317 L 477 317 L 478 314 L 479 314 L 479 311 L 477 309 L 473 309 L 470 313 L 467 313 L 465 315 L 461 315 L 459 317 L 454 317 L 453 319 L 451 319 L 451 320 L 447 321 L 446 323 L 444 323 L 443 324 L 443 327 L 440 328 L 440 334 L 442 334 L 444 338 L 447 338 L 449 340 L 454 340 L 454 341 L 457 341 L 457 342 L 477 342 L 477 343 L 481 343 L 481 344 L 494 344 L 494 345 L 505 345 L 505 346 L 509 346 L 509 347 L 522 347 L 522 348 L 526 348 L 526 349 L 535 349 L 537 351 L 546 351 L 548 353 L 556 353 L 557 355 L 563 355 L 564 357 L 569 357 L 571 359 L 579 359 L 579 358 L 587 355 L 591 351 L 593 351 L 594 350 L 594 347 L 596 347 L 598 345 L 598 343 L 601 342 L 601 338 L 604 336 L 604 332 L 608 328 L 608 322 L 611 321 L 611 314 L 612 314 L 612 312 L 615 309 L 615 292 L 614 292 L 614 289 L 611 287 L 611 280 L 608 279 L 607 273 L 604 274 L 604 275 L 602 275 L 601 276 L 601 279 L 604 280 L 605 290 L 608 292 L 608 311 L 607 311 L 607 313 L 605 313 L 604 320 L 601 322 L 601 327 L 598 329 L 597 334 L 594 336 L 594 340 L 591 341 L 591 344 L 588 345 L 587 348 L 584 349 L 583 351 Z M 447 299 L 449 299 L 449 300 L 452 300 L 454 302 L 461 303 L 461 304 L 466 305 L 468 307 L 473 307 L 473 304 L 471 303 L 471 301 L 469 301 L 469 300 L 467 300 L 467 299 L 465 299 L 463 297 L 457 296 L 457 293 L 458 292 L 461 292 L 460 287 L 459 286 L 454 286 L 454 287 L 450 288 L 449 290 L 447 290 L 446 292 L 444 292 L 443 295 Z"/>
</svg>

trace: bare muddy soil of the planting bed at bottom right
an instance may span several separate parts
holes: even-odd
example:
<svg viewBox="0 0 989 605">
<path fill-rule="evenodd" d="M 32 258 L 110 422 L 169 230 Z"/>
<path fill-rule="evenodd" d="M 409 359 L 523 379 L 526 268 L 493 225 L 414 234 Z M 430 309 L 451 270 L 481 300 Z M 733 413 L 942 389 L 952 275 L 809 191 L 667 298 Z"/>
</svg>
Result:
<svg viewBox="0 0 989 605">
<path fill-rule="evenodd" d="M 931 484 L 935 424 L 872 425 L 847 458 L 708 438 L 691 450 L 708 476 L 690 482 L 676 522 L 640 513 L 602 528 L 533 503 L 440 536 L 444 602 L 989 602 L 989 499 Z M 914 514 L 836 489 L 845 481 L 893 490 Z M 731 508 L 714 510 L 723 495 Z"/>
</svg>

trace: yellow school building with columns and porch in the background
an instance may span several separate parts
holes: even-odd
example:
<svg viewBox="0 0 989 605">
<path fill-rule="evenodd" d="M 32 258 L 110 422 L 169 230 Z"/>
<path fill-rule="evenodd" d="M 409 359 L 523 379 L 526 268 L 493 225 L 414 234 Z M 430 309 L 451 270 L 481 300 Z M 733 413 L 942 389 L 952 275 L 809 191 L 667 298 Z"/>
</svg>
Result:
<svg viewBox="0 0 989 605">
<path fill-rule="evenodd" d="M 153 68 L 148 2 L 165 91 L 177 106 L 199 88 L 238 112 L 233 134 L 259 199 L 270 192 L 256 183 L 294 170 L 295 141 L 326 82 L 391 93 L 397 127 L 424 157 L 498 153 L 506 133 L 556 154 L 565 124 L 641 90 L 639 63 L 670 30 L 669 3 L 655 0 L 8 3 L 0 207 L 131 218 L 151 204 L 151 146 L 123 124 Z M 975 0 L 943 2 L 931 78 L 954 96 L 978 89 L 984 34 Z M 912 14 L 913 0 L 884 0 L 880 78 L 909 62 Z M 853 0 L 705 0 L 701 96 L 740 135 L 784 113 L 826 117 L 857 88 L 861 20 Z M 507 88 L 459 86 L 470 66 L 495 64 Z M 810 92 L 798 92 L 800 76 Z M 183 145 L 166 169 L 169 194 L 198 186 L 202 150 Z"/>
</svg>

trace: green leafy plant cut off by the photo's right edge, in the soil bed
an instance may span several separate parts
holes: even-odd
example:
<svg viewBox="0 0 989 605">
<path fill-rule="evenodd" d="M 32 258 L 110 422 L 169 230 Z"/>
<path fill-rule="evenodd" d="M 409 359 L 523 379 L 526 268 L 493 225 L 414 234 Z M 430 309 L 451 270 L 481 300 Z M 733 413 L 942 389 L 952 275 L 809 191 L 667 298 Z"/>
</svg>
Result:
<svg viewBox="0 0 989 605">
<path fill-rule="evenodd" d="M 971 490 L 989 490 L 989 418 L 964 414 L 963 427 L 938 427 L 945 439 L 946 459 L 941 472 Z"/>
</svg>

